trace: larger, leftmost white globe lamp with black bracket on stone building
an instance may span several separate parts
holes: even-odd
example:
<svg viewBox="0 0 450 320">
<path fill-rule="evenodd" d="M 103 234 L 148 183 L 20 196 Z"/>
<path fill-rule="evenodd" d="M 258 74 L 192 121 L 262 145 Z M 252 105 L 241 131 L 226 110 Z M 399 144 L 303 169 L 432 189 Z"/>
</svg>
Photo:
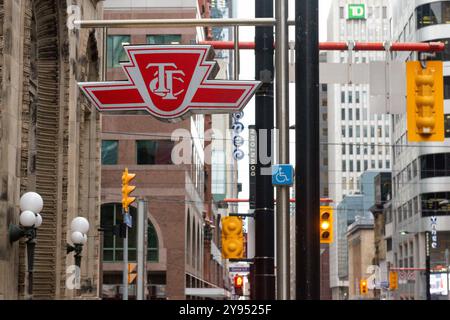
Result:
<svg viewBox="0 0 450 320">
<path fill-rule="evenodd" d="M 9 225 L 9 241 L 11 243 L 25 237 L 28 263 L 28 296 L 33 297 L 34 249 L 36 247 L 37 229 L 42 224 L 40 212 L 44 207 L 42 197 L 36 192 L 27 192 L 20 198 L 20 225 Z"/>
</svg>

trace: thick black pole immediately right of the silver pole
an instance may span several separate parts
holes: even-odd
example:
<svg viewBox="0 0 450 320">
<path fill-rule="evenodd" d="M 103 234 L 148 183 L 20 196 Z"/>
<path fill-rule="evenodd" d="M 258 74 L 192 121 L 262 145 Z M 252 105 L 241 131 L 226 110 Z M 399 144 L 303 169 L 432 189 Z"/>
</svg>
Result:
<svg viewBox="0 0 450 320">
<path fill-rule="evenodd" d="M 296 299 L 320 299 L 318 0 L 295 2 Z"/>
</svg>

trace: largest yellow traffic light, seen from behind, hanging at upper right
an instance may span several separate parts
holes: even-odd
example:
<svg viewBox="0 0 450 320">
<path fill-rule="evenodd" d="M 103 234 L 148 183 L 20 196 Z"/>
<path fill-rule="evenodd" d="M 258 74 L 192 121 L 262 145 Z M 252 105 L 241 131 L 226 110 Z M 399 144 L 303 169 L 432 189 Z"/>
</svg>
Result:
<svg viewBox="0 0 450 320">
<path fill-rule="evenodd" d="M 444 77 L 442 61 L 406 64 L 408 141 L 444 141 Z"/>
</svg>

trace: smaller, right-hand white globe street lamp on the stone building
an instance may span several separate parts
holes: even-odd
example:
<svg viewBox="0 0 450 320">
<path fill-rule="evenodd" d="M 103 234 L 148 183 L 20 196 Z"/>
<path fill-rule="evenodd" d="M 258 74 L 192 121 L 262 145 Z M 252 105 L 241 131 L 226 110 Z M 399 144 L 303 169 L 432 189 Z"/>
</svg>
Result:
<svg viewBox="0 0 450 320">
<path fill-rule="evenodd" d="M 76 217 L 70 224 L 71 236 L 73 245 L 67 244 L 67 254 L 75 252 L 75 280 L 80 284 L 80 268 L 81 268 L 81 252 L 83 245 L 87 242 L 87 233 L 89 231 L 89 221 L 83 217 Z"/>
</svg>

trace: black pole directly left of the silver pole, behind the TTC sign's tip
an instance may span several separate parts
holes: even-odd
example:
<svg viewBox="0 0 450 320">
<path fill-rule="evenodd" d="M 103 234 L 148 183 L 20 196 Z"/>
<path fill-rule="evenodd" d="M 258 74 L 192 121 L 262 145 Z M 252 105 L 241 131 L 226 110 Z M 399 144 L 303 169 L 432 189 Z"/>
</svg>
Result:
<svg viewBox="0 0 450 320">
<path fill-rule="evenodd" d="M 273 0 L 258 1 L 255 17 L 272 18 Z M 258 143 L 255 199 L 255 299 L 275 299 L 274 201 L 272 163 L 262 163 L 264 155 L 272 157 L 273 114 L 273 27 L 256 27 L 255 79 L 262 81 L 256 92 L 255 127 Z M 267 131 L 266 150 L 261 150 L 261 133 Z M 263 148 L 264 149 L 264 148 Z"/>
</svg>

